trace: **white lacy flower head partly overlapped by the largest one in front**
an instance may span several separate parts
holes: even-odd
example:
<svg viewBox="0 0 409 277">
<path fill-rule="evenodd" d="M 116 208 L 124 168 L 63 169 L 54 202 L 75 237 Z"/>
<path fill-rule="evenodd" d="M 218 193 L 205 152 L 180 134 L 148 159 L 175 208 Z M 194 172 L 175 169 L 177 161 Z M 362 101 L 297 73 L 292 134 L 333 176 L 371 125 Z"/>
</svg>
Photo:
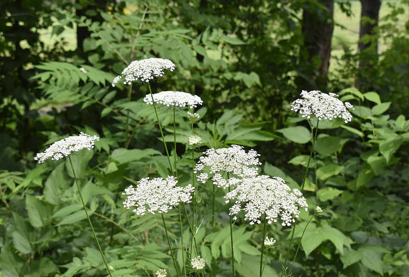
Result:
<svg viewBox="0 0 409 277">
<path fill-rule="evenodd" d="M 214 174 L 212 177 L 213 184 L 218 187 L 228 187 L 232 182 L 235 182 L 235 178 L 226 180 L 222 174 L 231 173 L 237 177 L 252 177 L 258 173 L 258 167 L 251 167 L 251 165 L 260 165 L 260 156 L 255 150 L 250 150 L 248 153 L 244 151 L 244 147 L 233 144 L 232 147 L 214 149 L 210 148 L 206 152 L 203 152 L 203 156 L 199 158 L 199 162 L 194 168 L 194 172 L 201 172 L 205 169 L 205 166 L 210 167 L 210 174 Z M 221 174 L 222 173 L 222 174 Z M 208 173 L 200 173 L 197 179 L 205 183 L 209 179 Z"/>
</svg>

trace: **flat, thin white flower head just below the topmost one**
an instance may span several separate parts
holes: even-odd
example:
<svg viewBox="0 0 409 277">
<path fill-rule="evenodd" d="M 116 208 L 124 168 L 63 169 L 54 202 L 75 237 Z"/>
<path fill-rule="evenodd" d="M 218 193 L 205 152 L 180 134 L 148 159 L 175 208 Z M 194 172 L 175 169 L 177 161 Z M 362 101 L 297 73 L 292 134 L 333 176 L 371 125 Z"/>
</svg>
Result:
<svg viewBox="0 0 409 277">
<path fill-rule="evenodd" d="M 144 98 L 147 104 L 152 104 L 152 96 L 147 94 Z M 201 105 L 203 101 L 197 95 L 191 95 L 187 92 L 181 91 L 163 91 L 153 94 L 153 101 L 166 106 L 184 107 L 188 105 L 190 108 Z"/>
</svg>

